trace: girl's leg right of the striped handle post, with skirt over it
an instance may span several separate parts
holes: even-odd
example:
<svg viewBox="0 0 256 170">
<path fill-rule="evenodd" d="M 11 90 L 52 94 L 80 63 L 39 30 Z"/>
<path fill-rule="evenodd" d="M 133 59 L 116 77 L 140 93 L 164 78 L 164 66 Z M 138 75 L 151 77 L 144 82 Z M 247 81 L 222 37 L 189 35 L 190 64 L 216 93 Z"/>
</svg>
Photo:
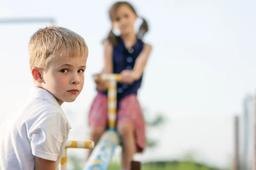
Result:
<svg viewBox="0 0 256 170">
<path fill-rule="evenodd" d="M 137 96 L 132 94 L 120 101 L 117 130 L 122 137 L 122 168 L 131 170 L 135 153 L 145 148 L 145 122 Z"/>
</svg>

